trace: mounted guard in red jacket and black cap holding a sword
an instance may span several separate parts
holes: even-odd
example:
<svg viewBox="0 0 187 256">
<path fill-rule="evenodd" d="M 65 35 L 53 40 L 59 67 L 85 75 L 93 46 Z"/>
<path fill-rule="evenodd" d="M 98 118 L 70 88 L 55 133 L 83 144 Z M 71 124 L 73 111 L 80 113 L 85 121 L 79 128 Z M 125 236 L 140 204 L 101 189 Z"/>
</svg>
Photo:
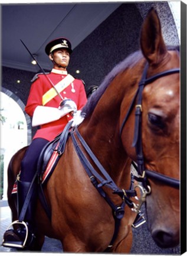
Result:
<svg viewBox="0 0 187 256">
<path fill-rule="evenodd" d="M 29 116 L 33 116 L 32 126 L 40 126 L 40 129 L 35 133 L 21 162 L 21 172 L 17 177 L 19 228 L 5 232 L 2 243 L 5 247 L 33 247 L 34 212 L 38 198 L 37 179 L 34 177 L 38 158 L 44 146 L 63 131 L 73 115 L 81 111 L 87 102 L 83 82 L 67 72 L 72 52 L 68 39 L 60 37 L 50 41 L 45 47 L 45 53 L 53 62 L 53 69 L 50 73 L 45 73 L 42 69 L 42 73 L 32 79 L 25 111 Z M 23 206 L 27 210 L 24 210 Z"/>
</svg>

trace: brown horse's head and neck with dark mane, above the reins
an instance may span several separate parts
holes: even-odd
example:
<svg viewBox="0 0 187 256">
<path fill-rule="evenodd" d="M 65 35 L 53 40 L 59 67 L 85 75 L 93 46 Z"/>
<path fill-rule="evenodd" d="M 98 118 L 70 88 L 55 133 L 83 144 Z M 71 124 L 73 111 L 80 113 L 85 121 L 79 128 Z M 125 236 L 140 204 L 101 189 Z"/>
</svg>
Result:
<svg viewBox="0 0 187 256">
<path fill-rule="evenodd" d="M 91 95 L 81 133 L 93 151 L 99 149 L 100 161 L 116 180 L 124 170 L 129 174 L 126 159 L 139 162 L 138 167 L 143 162 L 151 187 L 146 202 L 150 232 L 160 247 L 173 247 L 179 244 L 179 51 L 165 46 L 154 9 L 143 22 L 140 43 L 143 55 L 136 52 L 119 63 Z M 139 126 L 134 111 L 136 117 L 141 113 Z"/>
</svg>

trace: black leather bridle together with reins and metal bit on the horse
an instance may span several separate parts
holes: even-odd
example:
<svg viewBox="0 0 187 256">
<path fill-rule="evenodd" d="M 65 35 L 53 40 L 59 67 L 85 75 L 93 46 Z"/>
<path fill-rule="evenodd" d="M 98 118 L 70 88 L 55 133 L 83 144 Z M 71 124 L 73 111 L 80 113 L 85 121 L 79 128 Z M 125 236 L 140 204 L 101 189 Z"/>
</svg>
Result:
<svg viewBox="0 0 187 256">
<path fill-rule="evenodd" d="M 141 120 L 142 120 L 142 92 L 143 88 L 146 84 L 149 84 L 150 82 L 155 81 L 158 78 L 161 78 L 162 76 L 171 75 L 173 73 L 178 73 L 180 71 L 179 68 L 176 69 L 170 69 L 169 71 L 164 71 L 162 73 L 158 73 L 157 75 L 151 76 L 150 78 L 146 78 L 147 76 L 147 68 L 148 64 L 146 64 L 145 69 L 143 71 L 142 79 L 139 82 L 139 87 L 136 91 L 136 94 L 134 95 L 134 98 L 132 100 L 132 103 L 130 104 L 129 110 L 127 111 L 126 116 L 124 117 L 122 126 L 120 127 L 120 136 L 122 135 L 122 130 L 124 127 L 124 124 L 126 123 L 130 112 L 132 111 L 132 108 L 134 106 L 134 102 L 137 98 L 137 104 L 136 104 L 136 111 L 135 111 L 135 126 L 134 126 L 134 139 L 133 139 L 133 146 L 136 148 L 136 164 L 132 162 L 134 167 L 137 169 L 138 176 L 131 174 L 132 180 L 130 184 L 129 190 L 124 190 L 123 188 L 117 187 L 117 185 L 114 183 L 110 175 L 107 173 L 107 171 L 104 169 L 104 167 L 99 162 L 99 159 L 96 158 L 94 153 L 91 151 L 90 147 L 87 145 L 86 141 L 81 136 L 80 132 L 78 132 L 78 127 L 74 126 L 73 129 L 70 130 L 70 136 L 73 141 L 74 148 L 76 149 L 77 155 L 80 159 L 81 164 L 83 165 L 84 169 L 87 172 L 88 177 L 90 178 L 91 183 L 96 187 L 96 189 L 99 191 L 100 195 L 107 201 L 107 203 L 110 205 L 111 209 L 113 209 L 113 216 L 115 220 L 115 227 L 114 227 L 114 234 L 113 238 L 111 239 L 110 245 L 108 248 L 110 248 L 114 242 L 114 240 L 117 237 L 117 233 L 119 231 L 120 226 L 120 220 L 124 216 L 124 206 L 127 204 L 127 206 L 132 209 L 132 211 L 137 213 L 136 219 L 134 223 L 138 223 L 139 220 L 142 217 L 142 213 L 140 212 L 140 207 L 143 203 L 146 201 L 147 194 L 150 193 L 151 189 L 149 186 L 149 181 L 147 178 L 154 178 L 162 183 L 165 183 L 167 185 L 170 185 L 171 187 L 179 188 L 180 181 L 175 180 L 173 178 L 170 178 L 166 175 L 159 174 L 154 171 L 150 171 L 145 169 L 144 167 L 144 160 L 143 160 L 143 151 L 142 151 L 142 127 L 141 127 Z M 84 150 L 83 150 L 84 149 Z M 95 167 L 90 162 L 90 159 L 94 162 L 94 165 L 96 165 L 97 169 L 99 169 L 101 175 L 96 171 Z M 142 183 L 142 185 L 135 185 L 134 186 L 134 180 L 139 181 Z M 107 195 L 107 193 L 104 191 L 104 187 L 108 187 L 113 191 L 113 194 L 117 194 L 121 197 L 123 200 L 122 204 L 114 204 L 113 201 L 110 199 L 110 197 Z M 140 189 L 141 197 L 140 199 L 137 198 L 137 191 L 136 188 Z M 134 203 L 130 198 L 134 197 L 136 200 L 139 201 L 139 203 Z M 133 223 L 133 224 L 134 224 Z M 142 222 L 143 223 L 143 222 Z M 141 225 L 141 224 L 140 224 Z M 137 225 L 139 226 L 139 225 Z M 137 226 L 134 226 L 135 228 Z"/>
</svg>

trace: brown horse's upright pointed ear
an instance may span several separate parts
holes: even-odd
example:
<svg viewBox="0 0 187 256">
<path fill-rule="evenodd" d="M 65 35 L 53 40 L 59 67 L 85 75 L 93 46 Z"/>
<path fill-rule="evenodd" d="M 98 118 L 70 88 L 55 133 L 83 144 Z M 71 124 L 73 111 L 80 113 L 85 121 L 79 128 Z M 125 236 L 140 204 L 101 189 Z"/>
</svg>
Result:
<svg viewBox="0 0 187 256">
<path fill-rule="evenodd" d="M 150 65 L 159 63 L 166 54 L 159 16 L 153 8 L 143 22 L 140 44 L 142 53 Z"/>
</svg>

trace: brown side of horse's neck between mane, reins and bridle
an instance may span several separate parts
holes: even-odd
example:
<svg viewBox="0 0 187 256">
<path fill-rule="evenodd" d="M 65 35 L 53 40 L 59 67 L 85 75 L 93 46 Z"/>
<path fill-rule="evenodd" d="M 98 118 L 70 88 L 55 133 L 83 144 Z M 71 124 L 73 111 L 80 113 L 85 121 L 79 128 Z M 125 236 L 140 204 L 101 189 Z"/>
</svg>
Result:
<svg viewBox="0 0 187 256">
<path fill-rule="evenodd" d="M 119 92 L 111 94 L 112 91 L 111 87 L 104 92 L 93 114 L 81 126 L 81 133 L 114 181 L 122 183 L 124 172 L 129 173 L 131 159 L 124 151 L 119 135 L 123 97 Z"/>
</svg>

